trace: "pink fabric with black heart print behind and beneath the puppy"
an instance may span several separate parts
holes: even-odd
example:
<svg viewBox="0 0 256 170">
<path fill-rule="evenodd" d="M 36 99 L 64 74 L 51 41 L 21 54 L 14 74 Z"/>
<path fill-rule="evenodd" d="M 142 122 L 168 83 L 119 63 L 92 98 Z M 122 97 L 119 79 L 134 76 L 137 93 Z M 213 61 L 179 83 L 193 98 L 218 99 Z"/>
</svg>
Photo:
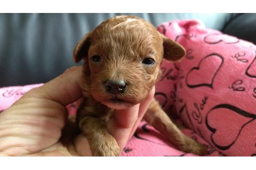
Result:
<svg viewBox="0 0 256 170">
<path fill-rule="evenodd" d="M 194 20 L 166 22 L 158 30 L 187 51 L 181 63 L 164 60 L 161 65 L 155 96 L 164 110 L 189 127 L 182 130 L 185 134 L 208 146 L 208 156 L 255 156 L 256 47 Z M 0 89 L 0 112 L 41 85 Z M 74 104 L 67 108 L 75 114 Z M 175 149 L 141 122 L 122 156 L 195 155 Z"/>
</svg>

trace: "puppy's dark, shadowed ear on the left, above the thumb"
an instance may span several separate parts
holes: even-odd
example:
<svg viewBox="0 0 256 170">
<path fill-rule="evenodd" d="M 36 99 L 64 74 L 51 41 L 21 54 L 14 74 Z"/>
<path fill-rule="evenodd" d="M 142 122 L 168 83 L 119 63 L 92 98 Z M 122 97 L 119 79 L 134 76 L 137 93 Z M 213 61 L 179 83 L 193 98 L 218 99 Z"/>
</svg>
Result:
<svg viewBox="0 0 256 170">
<path fill-rule="evenodd" d="M 73 51 L 73 59 L 76 63 L 88 56 L 88 50 L 91 45 L 91 40 L 92 32 L 89 32 L 84 35 L 84 37 L 78 42 L 78 44 L 76 44 Z"/>
</svg>

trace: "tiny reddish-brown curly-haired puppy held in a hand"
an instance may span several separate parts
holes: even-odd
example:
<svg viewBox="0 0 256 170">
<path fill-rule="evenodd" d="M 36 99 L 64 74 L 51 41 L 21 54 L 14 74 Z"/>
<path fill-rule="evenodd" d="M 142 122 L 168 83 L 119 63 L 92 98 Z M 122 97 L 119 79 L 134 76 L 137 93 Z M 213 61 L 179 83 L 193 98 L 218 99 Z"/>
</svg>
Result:
<svg viewBox="0 0 256 170">
<path fill-rule="evenodd" d="M 114 109 L 144 101 L 160 78 L 164 57 L 181 60 L 185 50 L 164 37 L 153 25 L 133 16 L 110 18 L 76 45 L 75 62 L 84 60 L 81 78 L 83 102 L 76 122 L 88 139 L 94 156 L 118 156 L 120 148 L 107 129 Z M 206 146 L 185 136 L 156 100 L 144 119 L 184 152 L 207 153 Z"/>
</svg>

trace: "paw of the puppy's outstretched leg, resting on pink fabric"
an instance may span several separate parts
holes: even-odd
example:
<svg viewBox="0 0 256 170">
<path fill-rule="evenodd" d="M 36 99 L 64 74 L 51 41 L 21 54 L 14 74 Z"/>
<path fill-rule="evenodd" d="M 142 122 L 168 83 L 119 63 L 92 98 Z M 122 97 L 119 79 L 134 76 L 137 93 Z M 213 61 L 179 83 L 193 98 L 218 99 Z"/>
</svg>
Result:
<svg viewBox="0 0 256 170">
<path fill-rule="evenodd" d="M 206 145 L 199 143 L 198 141 L 191 139 L 189 137 L 185 137 L 184 144 L 177 146 L 179 150 L 194 153 L 198 155 L 204 155 L 208 153 L 208 149 Z"/>
</svg>

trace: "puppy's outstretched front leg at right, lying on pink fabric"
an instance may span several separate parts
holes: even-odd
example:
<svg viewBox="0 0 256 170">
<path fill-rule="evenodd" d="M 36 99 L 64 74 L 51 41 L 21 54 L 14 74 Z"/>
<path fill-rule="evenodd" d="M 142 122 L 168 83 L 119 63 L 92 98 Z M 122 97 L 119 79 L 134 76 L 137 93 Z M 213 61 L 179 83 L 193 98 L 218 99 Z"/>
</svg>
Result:
<svg viewBox="0 0 256 170">
<path fill-rule="evenodd" d="M 144 119 L 156 130 L 167 136 L 173 145 L 184 152 L 207 154 L 207 147 L 184 135 L 162 110 L 159 103 L 153 100 Z"/>
</svg>

